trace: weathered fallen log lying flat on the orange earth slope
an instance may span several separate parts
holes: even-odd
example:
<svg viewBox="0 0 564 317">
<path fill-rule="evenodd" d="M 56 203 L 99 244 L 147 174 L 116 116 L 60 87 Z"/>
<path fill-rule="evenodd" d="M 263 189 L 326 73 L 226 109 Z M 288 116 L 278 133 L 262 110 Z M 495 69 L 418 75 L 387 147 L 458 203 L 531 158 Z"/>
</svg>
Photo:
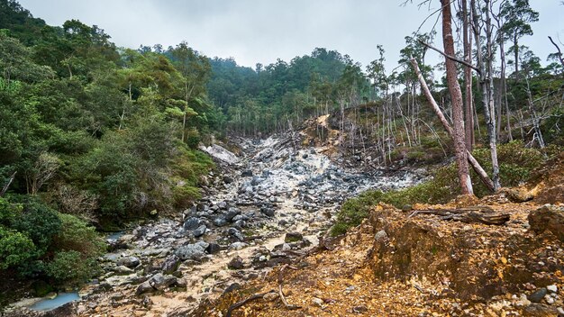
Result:
<svg viewBox="0 0 564 317">
<path fill-rule="evenodd" d="M 496 213 L 487 206 L 459 209 L 431 209 L 417 210 L 410 214 L 413 217 L 417 214 L 434 214 L 441 217 L 441 220 L 465 223 L 483 223 L 502 225 L 510 219 L 509 213 Z"/>
</svg>

